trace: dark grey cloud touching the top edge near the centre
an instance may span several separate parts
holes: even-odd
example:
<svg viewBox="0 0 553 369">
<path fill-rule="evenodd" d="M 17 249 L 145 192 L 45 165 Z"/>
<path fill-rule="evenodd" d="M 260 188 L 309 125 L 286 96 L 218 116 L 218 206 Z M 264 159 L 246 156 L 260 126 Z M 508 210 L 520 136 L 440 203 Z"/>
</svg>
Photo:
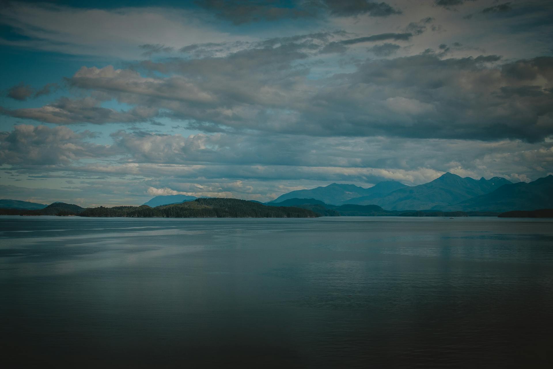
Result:
<svg viewBox="0 0 553 369">
<path fill-rule="evenodd" d="M 261 22 L 285 18 L 309 18 L 320 15 L 337 17 L 354 17 L 367 14 L 371 17 L 388 17 L 401 14 L 384 2 L 366 0 L 311 0 L 298 1 L 290 4 L 280 0 L 207 0 L 197 4 L 218 18 L 229 20 L 239 25 L 250 22 Z"/>
</svg>

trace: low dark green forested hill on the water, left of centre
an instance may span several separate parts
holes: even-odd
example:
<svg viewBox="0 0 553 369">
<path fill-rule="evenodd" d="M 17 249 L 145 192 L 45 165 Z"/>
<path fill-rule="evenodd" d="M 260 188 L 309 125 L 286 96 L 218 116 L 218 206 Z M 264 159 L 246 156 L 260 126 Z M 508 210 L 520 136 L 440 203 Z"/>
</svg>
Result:
<svg viewBox="0 0 553 369">
<path fill-rule="evenodd" d="M 311 218 L 315 212 L 299 207 L 267 206 L 238 199 L 196 199 L 180 204 L 150 207 L 116 206 L 88 208 L 80 216 L 114 217 L 232 217 L 232 218 Z"/>
</svg>

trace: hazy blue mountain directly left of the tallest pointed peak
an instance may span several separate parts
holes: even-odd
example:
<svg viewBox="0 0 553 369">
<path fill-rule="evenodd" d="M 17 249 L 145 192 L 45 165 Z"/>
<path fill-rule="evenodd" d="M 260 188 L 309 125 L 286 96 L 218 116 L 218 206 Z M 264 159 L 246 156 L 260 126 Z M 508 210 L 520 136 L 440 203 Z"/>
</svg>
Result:
<svg viewBox="0 0 553 369">
<path fill-rule="evenodd" d="M 363 188 L 352 184 L 332 183 L 328 186 L 321 186 L 310 190 L 296 190 L 287 194 L 280 195 L 270 202 L 282 202 L 288 199 L 315 199 L 326 204 L 341 205 L 345 201 L 361 196 L 371 196 L 373 194 L 388 194 L 398 188 L 406 187 L 398 181 L 380 182 L 370 188 Z"/>
</svg>

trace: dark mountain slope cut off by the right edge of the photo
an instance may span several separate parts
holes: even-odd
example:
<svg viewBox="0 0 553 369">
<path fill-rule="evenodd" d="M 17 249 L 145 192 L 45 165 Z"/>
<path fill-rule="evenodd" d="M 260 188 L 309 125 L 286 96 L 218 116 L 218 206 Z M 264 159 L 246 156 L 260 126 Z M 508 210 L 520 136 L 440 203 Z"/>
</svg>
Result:
<svg viewBox="0 0 553 369">
<path fill-rule="evenodd" d="M 553 207 L 553 175 L 533 182 L 507 184 L 489 194 L 476 196 L 447 210 L 461 211 L 514 211 L 536 210 Z"/>
</svg>

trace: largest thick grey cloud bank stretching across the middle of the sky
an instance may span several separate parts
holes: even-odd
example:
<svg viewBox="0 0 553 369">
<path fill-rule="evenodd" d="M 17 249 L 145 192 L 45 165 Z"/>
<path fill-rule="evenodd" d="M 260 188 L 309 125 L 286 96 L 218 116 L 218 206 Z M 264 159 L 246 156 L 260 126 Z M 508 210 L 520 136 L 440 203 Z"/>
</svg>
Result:
<svg viewBox="0 0 553 369">
<path fill-rule="evenodd" d="M 39 108 L 4 108 L 2 113 L 58 124 L 135 123 L 163 116 L 206 132 L 309 136 L 538 142 L 553 133 L 546 123 L 553 113 L 550 57 L 506 63 L 498 55 L 444 59 L 450 48 L 444 44 L 440 53 L 427 50 L 421 55 L 369 59 L 357 63 L 352 72 L 310 79 L 311 67 L 316 66 L 310 60 L 333 42 L 325 37 L 272 40 L 267 47 L 221 57 L 143 61 L 133 70 L 82 67 L 67 82 L 90 91 L 92 97 L 61 98 Z M 355 44 L 367 39 L 376 38 L 344 41 Z M 397 49 L 393 44 L 378 46 L 371 51 L 384 55 Z M 521 95 L 522 91 L 526 93 Z M 112 99 L 133 108 L 116 111 L 101 106 Z M 407 102 L 415 101 L 428 108 L 406 108 Z"/>
</svg>

